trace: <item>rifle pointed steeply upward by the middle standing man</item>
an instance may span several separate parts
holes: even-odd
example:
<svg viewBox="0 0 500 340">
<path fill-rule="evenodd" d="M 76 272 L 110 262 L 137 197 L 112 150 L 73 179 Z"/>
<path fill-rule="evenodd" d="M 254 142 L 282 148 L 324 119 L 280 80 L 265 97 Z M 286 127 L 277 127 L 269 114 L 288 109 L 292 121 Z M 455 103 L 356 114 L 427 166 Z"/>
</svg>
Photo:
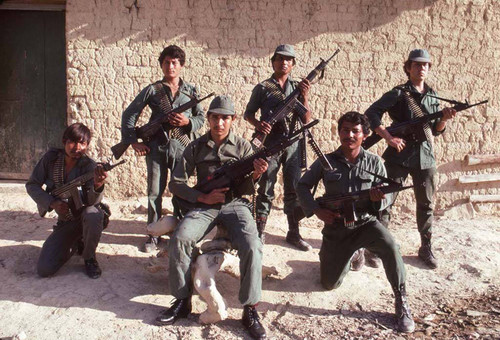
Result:
<svg viewBox="0 0 500 340">
<path fill-rule="evenodd" d="M 337 55 L 337 53 L 340 52 L 340 49 L 337 49 L 330 58 L 327 60 L 321 59 L 321 62 L 319 63 L 318 66 L 314 68 L 314 70 L 311 71 L 306 77 L 307 80 L 312 82 L 314 78 L 316 78 L 318 75 L 320 75 L 320 79 L 323 78 L 323 74 L 325 72 L 326 65 L 330 62 L 330 60 L 333 59 Z M 265 119 L 264 121 L 268 123 L 269 125 L 273 126 L 275 123 L 283 120 L 286 116 L 288 116 L 289 113 L 292 111 L 297 113 L 299 116 L 303 116 L 306 112 L 307 109 L 302 105 L 302 103 L 298 100 L 298 97 L 300 95 L 300 89 L 296 88 L 293 90 L 292 93 L 286 97 L 283 102 L 281 102 L 276 110 L 273 110 L 274 112 L 270 112 L 269 117 Z M 263 132 L 260 131 L 255 131 L 255 134 L 250 141 L 250 143 L 255 146 L 256 148 L 262 147 L 264 144 L 264 141 L 266 139 L 267 135 Z"/>
</svg>

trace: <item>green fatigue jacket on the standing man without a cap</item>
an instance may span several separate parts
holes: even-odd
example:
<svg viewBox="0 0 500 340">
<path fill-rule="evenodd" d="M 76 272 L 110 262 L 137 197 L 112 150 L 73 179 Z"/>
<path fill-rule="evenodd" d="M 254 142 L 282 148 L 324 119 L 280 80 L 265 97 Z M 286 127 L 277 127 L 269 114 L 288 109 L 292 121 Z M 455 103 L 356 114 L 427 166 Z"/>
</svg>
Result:
<svg viewBox="0 0 500 340">
<path fill-rule="evenodd" d="M 159 83 L 158 81 L 156 83 Z M 156 84 L 155 83 L 155 84 Z M 152 121 L 165 112 L 162 112 L 160 108 L 160 95 L 155 92 L 154 84 L 148 85 L 135 97 L 134 101 L 130 103 L 127 109 L 122 115 L 122 142 L 127 144 L 137 143 L 137 135 L 135 133 L 135 124 L 139 119 L 139 115 L 142 110 L 148 105 L 151 108 L 151 117 L 149 121 Z M 175 98 L 172 98 L 172 91 L 170 87 L 163 85 L 165 92 L 167 93 L 168 100 L 172 104 L 172 108 L 177 108 L 182 104 L 185 104 L 191 100 L 189 96 L 197 97 L 196 87 L 189 83 L 184 82 L 182 79 L 179 83 L 179 90 Z M 188 96 L 189 95 L 189 96 Z M 195 107 L 188 111 L 182 113 L 184 116 L 189 118 L 190 124 L 183 128 L 186 129 L 187 134 L 191 134 L 193 138 L 193 133 L 198 131 L 205 122 L 204 112 L 201 105 L 198 103 Z M 163 124 L 164 130 L 168 131 L 171 127 L 169 124 Z"/>
</svg>

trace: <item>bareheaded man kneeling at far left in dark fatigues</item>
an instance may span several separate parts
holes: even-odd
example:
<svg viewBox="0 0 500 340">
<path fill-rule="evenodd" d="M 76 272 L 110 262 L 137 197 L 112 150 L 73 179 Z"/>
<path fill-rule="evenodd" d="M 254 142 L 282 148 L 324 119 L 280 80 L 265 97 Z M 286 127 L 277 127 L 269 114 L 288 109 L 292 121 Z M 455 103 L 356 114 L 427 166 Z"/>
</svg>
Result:
<svg viewBox="0 0 500 340">
<path fill-rule="evenodd" d="M 101 276 L 101 268 L 95 253 L 104 227 L 104 212 L 96 205 L 102 199 L 107 173 L 85 154 L 90 143 L 90 130 L 85 125 L 75 123 L 68 126 L 62 141 L 64 149 L 50 149 L 37 163 L 26 183 L 26 191 L 39 208 L 55 210 L 58 216 L 54 231 L 43 243 L 37 272 L 42 277 L 55 274 L 71 258 L 83 237 L 85 272 L 90 278 L 97 279 Z M 50 194 L 54 189 L 89 173 L 94 175 L 82 185 L 81 193 L 77 192 L 69 202 Z M 47 191 L 42 189 L 43 185 L 47 186 Z M 75 205 L 82 208 L 71 210 Z"/>
</svg>

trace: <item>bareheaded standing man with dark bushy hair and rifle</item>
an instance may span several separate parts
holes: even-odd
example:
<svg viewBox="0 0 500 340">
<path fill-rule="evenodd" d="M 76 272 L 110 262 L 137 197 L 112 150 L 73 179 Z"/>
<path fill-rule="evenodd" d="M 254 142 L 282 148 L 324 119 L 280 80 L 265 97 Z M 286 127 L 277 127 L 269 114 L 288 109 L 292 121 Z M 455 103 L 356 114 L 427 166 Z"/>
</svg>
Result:
<svg viewBox="0 0 500 340">
<path fill-rule="evenodd" d="M 146 105 L 151 108 L 150 121 L 153 121 L 189 102 L 192 97 L 197 97 L 195 86 L 180 77 L 185 60 L 186 55 L 180 47 L 167 46 L 158 58 L 163 79 L 145 87 L 122 116 L 122 142 L 131 144 L 138 156 L 146 156 L 148 224 L 161 217 L 168 169 L 174 169 L 176 162 L 182 157 L 184 147 L 194 139 L 205 118 L 200 105 L 182 113 L 173 113 L 169 116 L 168 123 L 162 124 L 153 138 L 142 142 L 137 139 L 135 124 Z M 154 251 L 158 240 L 150 235 L 144 244 L 144 251 Z"/>
</svg>

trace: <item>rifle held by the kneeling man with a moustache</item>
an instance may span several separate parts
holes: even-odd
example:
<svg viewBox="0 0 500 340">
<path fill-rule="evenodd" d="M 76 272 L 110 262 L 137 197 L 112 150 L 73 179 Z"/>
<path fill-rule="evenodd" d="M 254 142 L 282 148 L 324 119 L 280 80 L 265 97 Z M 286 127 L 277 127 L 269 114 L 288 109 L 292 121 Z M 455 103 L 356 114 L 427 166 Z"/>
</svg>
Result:
<svg viewBox="0 0 500 340">
<path fill-rule="evenodd" d="M 397 182 L 390 182 L 388 185 L 381 186 L 379 189 L 384 193 L 399 192 L 402 190 L 413 188 L 413 185 L 403 186 Z M 348 194 L 324 195 L 316 198 L 321 208 L 337 212 L 344 219 L 344 225 L 348 228 L 354 227 L 355 222 L 358 220 L 354 202 L 360 200 L 370 199 L 370 189 L 350 192 Z M 302 208 L 295 209 L 294 217 L 296 221 L 300 221 L 305 217 Z"/>
</svg>

